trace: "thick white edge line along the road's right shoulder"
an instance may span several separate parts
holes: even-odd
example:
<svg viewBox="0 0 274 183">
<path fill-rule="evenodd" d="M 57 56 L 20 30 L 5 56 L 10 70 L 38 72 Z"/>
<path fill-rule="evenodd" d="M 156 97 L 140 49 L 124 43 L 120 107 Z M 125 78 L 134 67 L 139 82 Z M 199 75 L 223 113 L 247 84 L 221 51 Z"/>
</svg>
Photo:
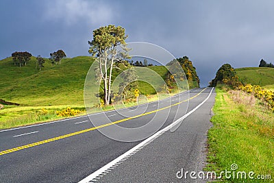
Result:
<svg viewBox="0 0 274 183">
<path fill-rule="evenodd" d="M 214 87 L 212 88 L 212 90 L 214 89 Z M 186 117 L 188 117 L 190 114 L 192 114 L 193 112 L 195 112 L 195 110 L 197 110 L 199 107 L 201 107 L 201 105 L 203 105 L 203 103 L 205 103 L 211 93 L 212 90 L 210 91 L 210 94 L 208 95 L 208 97 L 206 99 L 204 99 L 198 106 L 196 106 L 194 109 L 190 110 L 190 112 L 188 112 L 187 114 L 185 114 L 183 117 L 177 119 L 175 122 L 171 123 L 171 125 L 168 125 L 167 127 L 164 127 L 162 130 L 156 132 L 155 134 L 153 134 L 152 136 L 150 136 L 149 138 L 145 139 L 145 141 L 142 141 L 141 143 L 139 143 L 138 145 L 136 145 L 135 147 L 133 147 L 132 149 L 129 149 L 128 151 L 126 151 L 124 154 L 122 154 L 121 156 L 119 156 L 118 158 L 112 160 L 111 162 L 109 162 L 108 164 L 105 164 L 105 166 L 101 167 L 100 169 L 98 169 L 97 171 L 95 171 L 94 173 L 91 173 L 90 175 L 88 175 L 88 177 L 84 178 L 83 180 L 81 180 L 78 183 L 87 183 L 90 182 L 91 180 L 94 180 L 95 178 L 98 177 L 98 175 L 101 175 L 101 173 L 103 173 L 104 171 L 110 169 L 110 167 L 112 167 L 114 164 L 116 164 L 117 162 L 121 161 L 123 158 L 125 158 L 125 156 L 131 156 L 129 154 L 132 154 L 134 151 L 136 151 L 137 149 L 139 149 L 140 147 L 145 147 L 145 145 L 151 143 L 152 141 L 154 141 L 156 138 L 158 138 L 161 134 L 163 134 L 164 132 L 168 131 L 171 129 L 171 127 L 173 127 L 174 125 L 177 125 L 177 123 L 181 122 L 183 119 L 185 119 Z"/>
</svg>

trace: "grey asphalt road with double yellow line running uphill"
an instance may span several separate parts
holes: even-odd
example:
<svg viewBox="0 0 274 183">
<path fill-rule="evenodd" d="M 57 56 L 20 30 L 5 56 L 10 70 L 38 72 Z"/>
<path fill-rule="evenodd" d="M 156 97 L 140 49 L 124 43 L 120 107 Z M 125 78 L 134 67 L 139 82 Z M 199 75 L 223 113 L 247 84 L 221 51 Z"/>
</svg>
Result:
<svg viewBox="0 0 274 183">
<path fill-rule="evenodd" d="M 146 125 L 138 135 L 132 132 L 111 134 L 115 139 L 133 141 L 138 136 L 164 130 L 190 111 L 192 114 L 175 132 L 160 134 L 127 160 L 97 176 L 96 180 L 205 182 L 178 179 L 176 173 L 182 168 L 185 171 L 201 171 L 204 166 L 206 135 L 211 126 L 214 103 L 211 90 L 195 88 L 137 108 L 0 131 L 0 182 L 79 182 L 143 141 L 115 141 L 99 130 L 108 132 L 114 127 L 112 122 L 136 129 Z M 197 108 L 203 101 L 206 102 Z"/>
</svg>

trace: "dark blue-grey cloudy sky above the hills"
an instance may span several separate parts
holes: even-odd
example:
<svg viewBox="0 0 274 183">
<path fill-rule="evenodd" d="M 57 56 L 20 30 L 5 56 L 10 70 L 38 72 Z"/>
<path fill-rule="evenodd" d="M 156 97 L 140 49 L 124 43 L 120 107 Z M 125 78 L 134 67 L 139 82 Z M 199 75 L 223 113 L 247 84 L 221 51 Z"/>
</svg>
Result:
<svg viewBox="0 0 274 183">
<path fill-rule="evenodd" d="M 274 1 L 1 0 L 0 59 L 13 51 L 49 57 L 63 49 L 88 56 L 92 30 L 125 27 L 127 42 L 159 45 L 188 56 L 206 86 L 224 63 L 274 62 Z"/>
</svg>

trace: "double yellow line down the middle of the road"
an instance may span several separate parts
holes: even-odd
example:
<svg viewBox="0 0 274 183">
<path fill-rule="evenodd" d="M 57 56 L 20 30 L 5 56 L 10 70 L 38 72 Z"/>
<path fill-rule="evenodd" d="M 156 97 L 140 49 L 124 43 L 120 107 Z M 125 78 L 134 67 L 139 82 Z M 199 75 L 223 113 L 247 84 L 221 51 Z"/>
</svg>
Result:
<svg viewBox="0 0 274 183">
<path fill-rule="evenodd" d="M 23 146 L 20 146 L 20 147 L 15 147 L 15 148 L 12 148 L 12 149 L 7 149 L 7 150 L 5 150 L 5 151 L 0 151 L 0 156 L 3 155 L 3 154 L 12 153 L 12 152 L 14 152 L 14 151 L 19 151 L 19 150 L 21 150 L 21 149 L 27 149 L 27 148 L 29 148 L 29 147 L 34 147 L 34 146 L 37 146 L 37 145 L 42 145 L 42 144 L 45 144 L 45 143 L 50 143 L 50 142 L 53 142 L 53 141 L 58 141 L 58 140 L 60 140 L 60 139 L 62 139 L 62 138 L 68 138 L 68 137 L 70 137 L 70 136 L 75 136 L 75 135 L 77 135 L 77 134 L 83 134 L 83 133 L 85 133 L 85 132 L 90 132 L 90 131 L 92 131 L 92 130 L 97 130 L 97 129 L 101 128 L 101 127 L 107 127 L 107 126 L 110 126 L 110 125 L 114 125 L 114 124 L 116 124 L 116 123 L 121 123 L 121 122 L 124 122 L 124 121 L 128 121 L 128 120 L 130 120 L 130 119 L 136 119 L 136 118 L 138 118 L 138 117 L 142 117 L 142 116 L 145 116 L 145 115 L 147 115 L 147 114 L 152 114 L 152 113 L 158 112 L 158 111 L 160 111 L 160 110 L 165 110 L 166 108 L 171 108 L 172 106 L 177 106 L 177 105 L 179 105 L 180 103 L 183 103 L 183 102 L 185 102 L 185 101 L 189 101 L 190 99 L 194 99 L 195 97 L 197 97 L 198 95 L 200 95 L 204 90 L 206 90 L 206 88 L 204 88 L 203 90 L 201 90 L 201 92 L 198 93 L 197 95 L 195 95 L 195 96 L 193 96 L 193 97 L 190 97 L 189 99 L 186 99 L 186 100 L 184 100 L 184 101 L 180 101 L 180 102 L 174 103 L 174 104 L 172 104 L 171 106 L 166 106 L 166 107 L 160 108 L 160 109 L 158 109 L 158 110 L 153 110 L 153 111 L 151 111 L 151 112 L 146 112 L 146 113 L 143 113 L 143 114 L 139 114 L 139 115 L 136 115 L 136 116 L 134 116 L 134 117 L 129 117 L 129 118 L 121 119 L 121 120 L 119 120 L 119 121 L 114 121 L 114 122 L 112 122 L 112 123 L 106 123 L 105 125 L 99 125 L 99 126 L 96 126 L 96 127 L 88 128 L 88 129 L 86 129 L 86 130 L 81 130 L 81 131 L 78 131 L 78 132 L 73 132 L 73 133 L 71 133 L 71 134 L 66 134 L 66 135 L 62 135 L 62 136 L 56 136 L 56 137 L 54 137 L 54 138 L 49 138 L 49 139 L 47 139 L 47 140 L 39 141 L 39 142 L 37 142 L 37 143 L 30 143 L 30 144 L 23 145 Z"/>
</svg>

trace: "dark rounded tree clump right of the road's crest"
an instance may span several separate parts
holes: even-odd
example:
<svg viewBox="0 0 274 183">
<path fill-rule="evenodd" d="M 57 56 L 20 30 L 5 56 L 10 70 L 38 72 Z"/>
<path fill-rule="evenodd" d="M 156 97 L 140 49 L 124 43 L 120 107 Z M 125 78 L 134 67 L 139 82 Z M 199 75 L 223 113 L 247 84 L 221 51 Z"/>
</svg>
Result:
<svg viewBox="0 0 274 183">
<path fill-rule="evenodd" d="M 216 86 L 217 84 L 228 84 L 231 86 L 239 84 L 236 71 L 230 64 L 223 64 L 217 71 L 216 77 L 210 82 L 210 86 Z"/>
</svg>

